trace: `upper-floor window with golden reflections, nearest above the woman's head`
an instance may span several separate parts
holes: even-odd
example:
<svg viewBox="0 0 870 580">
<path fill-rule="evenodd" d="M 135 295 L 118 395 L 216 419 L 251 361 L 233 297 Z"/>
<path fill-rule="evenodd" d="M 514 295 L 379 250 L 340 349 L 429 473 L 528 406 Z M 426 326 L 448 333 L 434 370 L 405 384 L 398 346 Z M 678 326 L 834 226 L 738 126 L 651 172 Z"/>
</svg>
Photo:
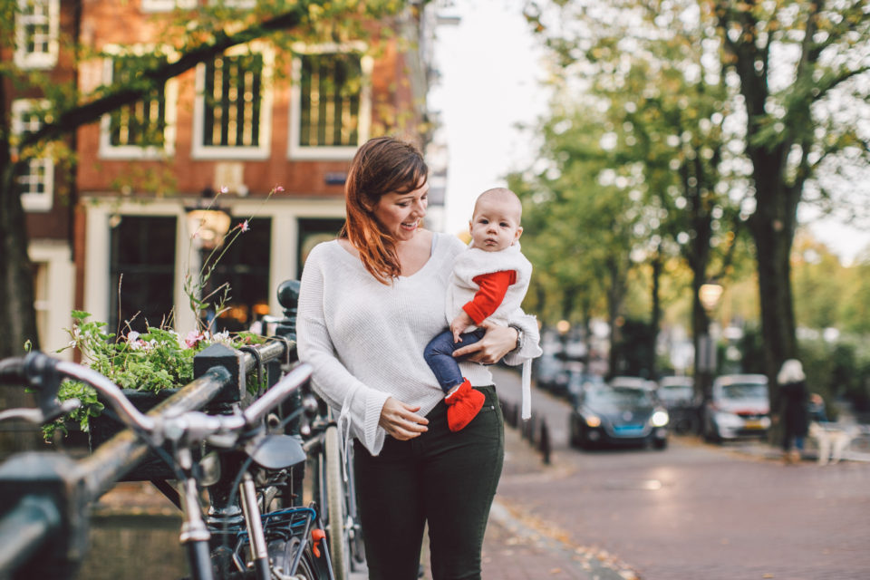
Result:
<svg viewBox="0 0 870 580">
<path fill-rule="evenodd" d="M 370 60 L 340 51 L 303 53 L 295 59 L 292 157 L 353 157 L 368 138 Z"/>
</svg>

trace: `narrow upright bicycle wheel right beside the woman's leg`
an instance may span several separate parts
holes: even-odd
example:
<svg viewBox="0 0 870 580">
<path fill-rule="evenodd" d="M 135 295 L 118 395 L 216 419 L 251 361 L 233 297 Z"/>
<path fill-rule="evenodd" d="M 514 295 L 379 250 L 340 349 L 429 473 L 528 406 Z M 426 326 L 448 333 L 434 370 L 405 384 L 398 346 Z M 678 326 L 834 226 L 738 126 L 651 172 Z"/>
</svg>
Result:
<svg viewBox="0 0 870 580">
<path fill-rule="evenodd" d="M 347 507 L 345 505 L 339 437 L 337 427 L 333 425 L 326 428 L 323 451 L 325 458 L 321 462 L 321 465 L 324 466 L 324 486 L 321 493 L 325 492 L 325 498 L 322 498 L 325 501 L 321 504 L 321 510 L 324 512 L 326 541 L 329 546 L 330 559 L 333 562 L 333 575 L 335 575 L 335 580 L 347 580 L 351 571 L 351 553 L 349 530 L 345 525 Z"/>
</svg>

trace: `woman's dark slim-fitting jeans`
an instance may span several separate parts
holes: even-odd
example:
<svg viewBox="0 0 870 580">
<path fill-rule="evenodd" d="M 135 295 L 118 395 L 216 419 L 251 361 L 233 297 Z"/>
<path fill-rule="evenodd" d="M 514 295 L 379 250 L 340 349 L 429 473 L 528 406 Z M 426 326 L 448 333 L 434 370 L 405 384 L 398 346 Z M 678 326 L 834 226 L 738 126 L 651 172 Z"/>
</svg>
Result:
<svg viewBox="0 0 870 580">
<path fill-rule="evenodd" d="M 486 402 L 456 433 L 440 402 L 429 430 L 412 440 L 387 437 L 377 457 L 354 447 L 356 491 L 370 580 L 414 580 L 423 527 L 429 523 L 434 580 L 480 577 L 480 551 L 489 507 L 505 456 L 504 419 L 494 386 L 479 387 Z"/>
</svg>

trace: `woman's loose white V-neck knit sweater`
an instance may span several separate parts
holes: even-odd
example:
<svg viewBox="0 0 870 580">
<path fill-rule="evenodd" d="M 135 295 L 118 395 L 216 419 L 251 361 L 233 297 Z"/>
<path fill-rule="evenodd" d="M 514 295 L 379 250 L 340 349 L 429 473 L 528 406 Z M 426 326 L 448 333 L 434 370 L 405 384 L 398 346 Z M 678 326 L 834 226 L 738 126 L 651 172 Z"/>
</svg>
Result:
<svg viewBox="0 0 870 580">
<path fill-rule="evenodd" d="M 420 405 L 420 415 L 444 397 L 423 360 L 423 349 L 447 328 L 444 304 L 459 238 L 435 234 L 432 255 L 418 272 L 391 285 L 378 282 L 336 240 L 314 247 L 305 261 L 296 318 L 299 359 L 314 367 L 314 390 L 350 420 L 350 434 L 377 455 L 386 435 L 379 425 L 388 397 Z M 540 353 L 534 316 L 511 320 L 523 329 L 520 364 Z M 486 366 L 461 362 L 472 385 L 492 384 Z"/>
</svg>

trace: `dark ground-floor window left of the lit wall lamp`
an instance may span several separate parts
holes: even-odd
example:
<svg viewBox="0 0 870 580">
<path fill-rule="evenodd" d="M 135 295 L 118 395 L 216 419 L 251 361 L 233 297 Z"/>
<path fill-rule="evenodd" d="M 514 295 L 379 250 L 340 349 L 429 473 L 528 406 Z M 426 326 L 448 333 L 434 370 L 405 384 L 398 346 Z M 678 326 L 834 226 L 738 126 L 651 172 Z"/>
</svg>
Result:
<svg viewBox="0 0 870 580">
<path fill-rule="evenodd" d="M 149 326 L 169 325 L 176 221 L 174 216 L 125 215 L 112 227 L 109 332 L 144 333 Z"/>
</svg>

